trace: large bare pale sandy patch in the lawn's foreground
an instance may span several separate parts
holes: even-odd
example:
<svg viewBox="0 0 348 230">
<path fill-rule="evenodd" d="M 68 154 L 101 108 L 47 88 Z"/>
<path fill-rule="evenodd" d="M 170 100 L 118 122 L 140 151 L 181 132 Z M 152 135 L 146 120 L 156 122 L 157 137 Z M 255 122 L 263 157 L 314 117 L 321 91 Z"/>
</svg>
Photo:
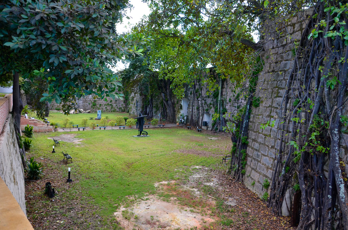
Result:
<svg viewBox="0 0 348 230">
<path fill-rule="evenodd" d="M 128 213 L 131 214 L 127 216 Z M 137 230 L 200 229 L 204 222 L 210 223 L 214 221 L 210 217 L 192 212 L 190 208 L 178 208 L 177 205 L 160 200 L 155 196 L 149 196 L 141 200 L 132 208 L 121 207 L 114 215 L 125 230 L 134 228 Z"/>
</svg>

